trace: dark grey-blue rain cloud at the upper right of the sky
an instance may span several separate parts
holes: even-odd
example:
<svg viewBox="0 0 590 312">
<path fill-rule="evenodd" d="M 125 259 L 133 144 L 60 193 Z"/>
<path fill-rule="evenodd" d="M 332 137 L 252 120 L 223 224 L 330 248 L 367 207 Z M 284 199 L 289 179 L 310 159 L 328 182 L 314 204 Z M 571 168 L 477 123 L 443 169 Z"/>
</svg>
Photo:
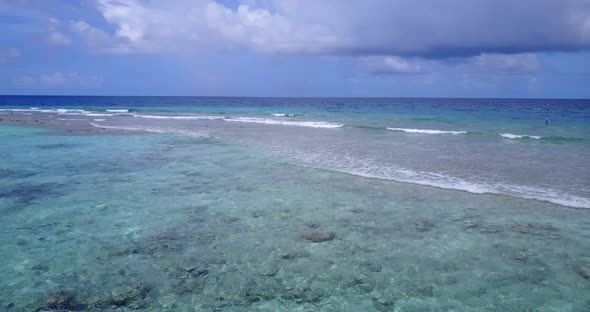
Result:
<svg viewBox="0 0 590 312">
<path fill-rule="evenodd" d="M 323 24 L 342 39 L 327 53 L 446 58 L 590 48 L 587 0 L 281 2 L 288 19 Z"/>
</svg>

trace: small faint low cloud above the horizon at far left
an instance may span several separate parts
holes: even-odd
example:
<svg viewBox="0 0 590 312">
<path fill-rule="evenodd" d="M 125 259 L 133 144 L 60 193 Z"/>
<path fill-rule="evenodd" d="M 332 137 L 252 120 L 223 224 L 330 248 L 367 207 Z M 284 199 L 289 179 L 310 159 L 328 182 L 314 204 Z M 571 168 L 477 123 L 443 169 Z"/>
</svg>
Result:
<svg viewBox="0 0 590 312">
<path fill-rule="evenodd" d="M 76 72 L 52 72 L 40 75 L 22 75 L 13 79 L 13 84 L 20 87 L 101 87 L 100 76 L 83 76 Z"/>
</svg>

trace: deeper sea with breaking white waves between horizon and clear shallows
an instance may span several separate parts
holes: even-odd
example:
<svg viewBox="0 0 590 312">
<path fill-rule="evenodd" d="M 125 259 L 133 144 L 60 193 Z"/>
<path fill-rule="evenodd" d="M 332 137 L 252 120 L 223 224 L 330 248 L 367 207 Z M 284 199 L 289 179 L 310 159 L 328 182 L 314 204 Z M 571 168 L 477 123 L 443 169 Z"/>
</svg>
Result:
<svg viewBox="0 0 590 312">
<path fill-rule="evenodd" d="M 590 208 L 587 100 L 7 96 L 0 106 L 0 118 L 206 134 L 314 168 Z"/>
</svg>

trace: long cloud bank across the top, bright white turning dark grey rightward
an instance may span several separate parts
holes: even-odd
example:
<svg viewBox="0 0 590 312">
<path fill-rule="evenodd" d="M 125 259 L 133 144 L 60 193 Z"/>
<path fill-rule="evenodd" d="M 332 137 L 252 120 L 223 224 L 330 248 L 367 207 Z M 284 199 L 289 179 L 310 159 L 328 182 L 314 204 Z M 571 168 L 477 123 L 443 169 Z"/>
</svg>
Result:
<svg viewBox="0 0 590 312">
<path fill-rule="evenodd" d="M 235 8 L 213 0 L 96 3 L 114 31 L 85 21 L 74 21 L 73 29 L 89 46 L 111 53 L 236 46 L 445 58 L 590 49 L 587 0 L 265 0 Z"/>
</svg>

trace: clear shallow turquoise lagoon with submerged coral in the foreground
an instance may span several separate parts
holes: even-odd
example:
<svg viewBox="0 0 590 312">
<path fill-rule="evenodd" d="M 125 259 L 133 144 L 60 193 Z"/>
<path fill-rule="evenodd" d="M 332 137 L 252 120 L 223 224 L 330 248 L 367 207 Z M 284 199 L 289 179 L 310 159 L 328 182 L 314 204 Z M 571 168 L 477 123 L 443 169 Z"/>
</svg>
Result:
<svg viewBox="0 0 590 312">
<path fill-rule="evenodd" d="M 5 311 L 587 311 L 586 210 L 0 127 Z"/>
</svg>

